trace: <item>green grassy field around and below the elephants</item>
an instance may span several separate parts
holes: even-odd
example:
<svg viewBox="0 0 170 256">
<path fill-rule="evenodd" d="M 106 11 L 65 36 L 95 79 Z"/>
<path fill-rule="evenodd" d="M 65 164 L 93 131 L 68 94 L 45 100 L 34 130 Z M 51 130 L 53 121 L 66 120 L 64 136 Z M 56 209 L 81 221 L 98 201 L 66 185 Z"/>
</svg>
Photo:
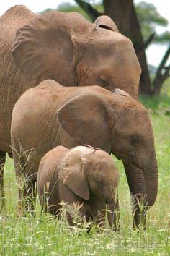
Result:
<svg viewBox="0 0 170 256">
<path fill-rule="evenodd" d="M 17 184 L 12 160 L 6 163 L 6 210 L 0 214 L 0 255 L 170 255 L 170 98 L 141 99 L 153 122 L 158 158 L 158 198 L 148 211 L 147 229 L 133 231 L 128 184 L 120 170 L 121 230 L 88 234 L 86 225 L 68 227 L 50 215 L 17 216 Z"/>
</svg>

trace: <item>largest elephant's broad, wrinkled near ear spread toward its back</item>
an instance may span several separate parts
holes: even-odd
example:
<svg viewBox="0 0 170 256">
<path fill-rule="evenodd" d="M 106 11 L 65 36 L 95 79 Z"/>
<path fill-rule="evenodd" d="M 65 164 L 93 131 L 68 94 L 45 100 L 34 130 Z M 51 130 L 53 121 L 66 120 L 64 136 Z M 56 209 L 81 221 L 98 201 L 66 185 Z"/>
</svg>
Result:
<svg viewBox="0 0 170 256">
<path fill-rule="evenodd" d="M 63 20 L 66 14 L 46 12 L 17 31 L 12 56 L 22 74 L 35 85 L 46 79 L 74 84 L 73 43 Z"/>
</svg>

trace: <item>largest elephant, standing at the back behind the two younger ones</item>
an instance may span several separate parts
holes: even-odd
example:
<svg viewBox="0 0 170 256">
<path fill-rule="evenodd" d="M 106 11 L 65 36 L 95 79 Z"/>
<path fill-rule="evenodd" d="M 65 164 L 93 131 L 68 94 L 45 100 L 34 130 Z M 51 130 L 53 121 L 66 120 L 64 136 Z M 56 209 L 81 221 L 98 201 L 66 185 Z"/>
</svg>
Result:
<svg viewBox="0 0 170 256">
<path fill-rule="evenodd" d="M 122 88 L 138 98 L 140 65 L 133 45 L 118 33 L 107 16 L 91 23 L 76 12 L 37 15 L 24 6 L 16 6 L 0 17 L 0 30 L 2 166 L 5 153 L 12 153 L 10 125 L 14 103 L 25 90 L 42 80 L 50 78 L 65 86 Z"/>
</svg>

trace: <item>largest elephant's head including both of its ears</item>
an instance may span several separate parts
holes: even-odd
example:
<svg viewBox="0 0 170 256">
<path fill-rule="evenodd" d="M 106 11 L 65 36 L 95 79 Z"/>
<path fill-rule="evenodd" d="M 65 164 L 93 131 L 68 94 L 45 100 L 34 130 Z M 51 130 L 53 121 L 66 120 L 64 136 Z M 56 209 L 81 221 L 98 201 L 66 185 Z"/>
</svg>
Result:
<svg viewBox="0 0 170 256">
<path fill-rule="evenodd" d="M 12 55 L 32 85 L 53 79 L 65 86 L 120 88 L 138 98 L 133 44 L 107 16 L 92 24 L 74 12 L 37 15 L 17 31 Z"/>
</svg>

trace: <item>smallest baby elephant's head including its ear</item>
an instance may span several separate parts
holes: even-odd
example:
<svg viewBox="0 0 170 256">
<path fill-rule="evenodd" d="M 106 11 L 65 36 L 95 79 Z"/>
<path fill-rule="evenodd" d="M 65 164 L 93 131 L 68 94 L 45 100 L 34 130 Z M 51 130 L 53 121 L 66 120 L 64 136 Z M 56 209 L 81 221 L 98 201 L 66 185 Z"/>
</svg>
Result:
<svg viewBox="0 0 170 256">
<path fill-rule="evenodd" d="M 66 153 L 59 176 L 66 186 L 84 200 L 97 195 L 114 205 L 119 175 L 115 162 L 103 150 L 78 146 Z"/>
</svg>

